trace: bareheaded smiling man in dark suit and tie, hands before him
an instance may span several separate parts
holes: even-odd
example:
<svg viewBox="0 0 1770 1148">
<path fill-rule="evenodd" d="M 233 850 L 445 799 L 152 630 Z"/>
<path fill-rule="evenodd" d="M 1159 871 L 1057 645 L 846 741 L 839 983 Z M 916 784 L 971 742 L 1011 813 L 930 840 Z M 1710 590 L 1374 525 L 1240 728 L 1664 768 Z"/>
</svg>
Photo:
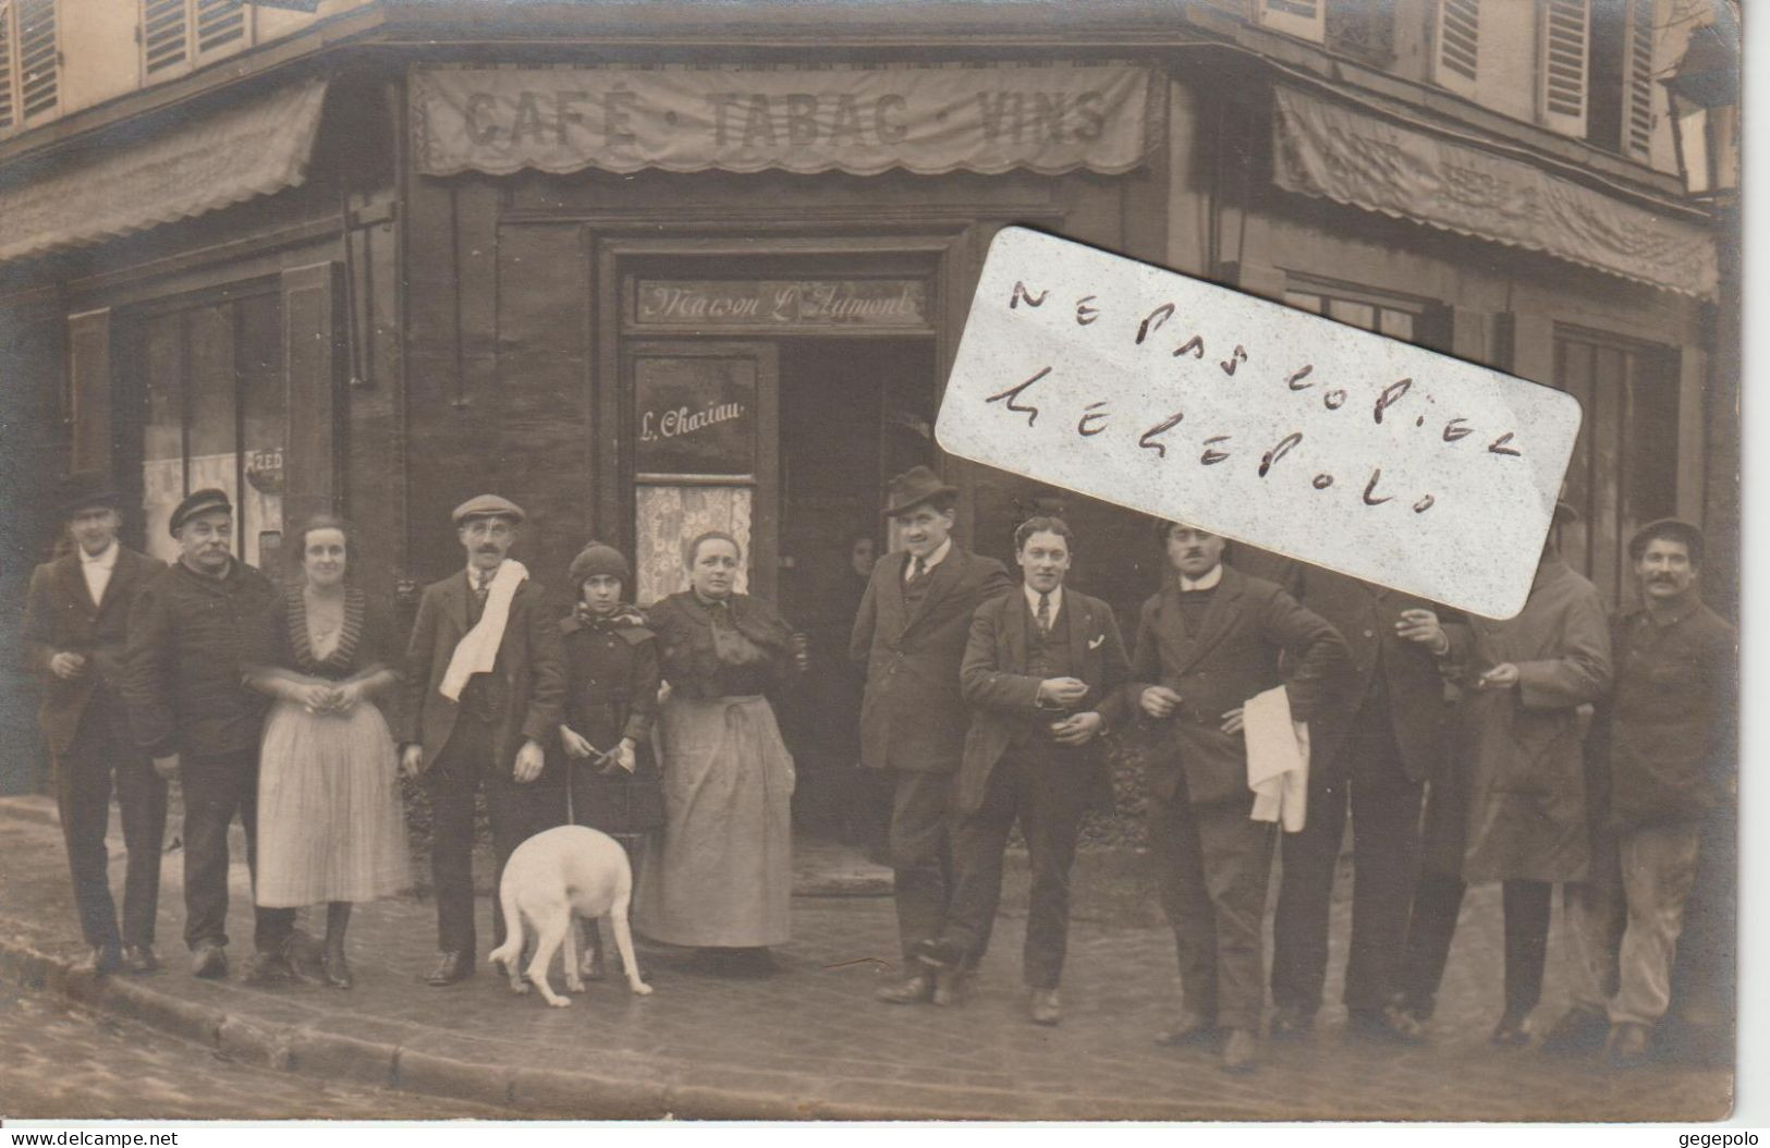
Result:
<svg viewBox="0 0 1770 1148">
<path fill-rule="evenodd" d="M 1069 869 L 1081 814 L 1112 805 L 1099 752 L 1099 706 L 1129 665 L 1112 607 L 1064 585 L 1073 534 L 1062 518 L 1028 518 L 1014 532 L 1021 593 L 986 601 L 959 667 L 974 706 L 959 764 L 947 925 L 917 945 L 936 968 L 975 966 L 1002 899 L 1002 851 L 1020 821 L 1032 860 L 1023 971 L 1028 1015 L 1057 1024 L 1057 982 L 1069 941 Z"/>
</svg>

